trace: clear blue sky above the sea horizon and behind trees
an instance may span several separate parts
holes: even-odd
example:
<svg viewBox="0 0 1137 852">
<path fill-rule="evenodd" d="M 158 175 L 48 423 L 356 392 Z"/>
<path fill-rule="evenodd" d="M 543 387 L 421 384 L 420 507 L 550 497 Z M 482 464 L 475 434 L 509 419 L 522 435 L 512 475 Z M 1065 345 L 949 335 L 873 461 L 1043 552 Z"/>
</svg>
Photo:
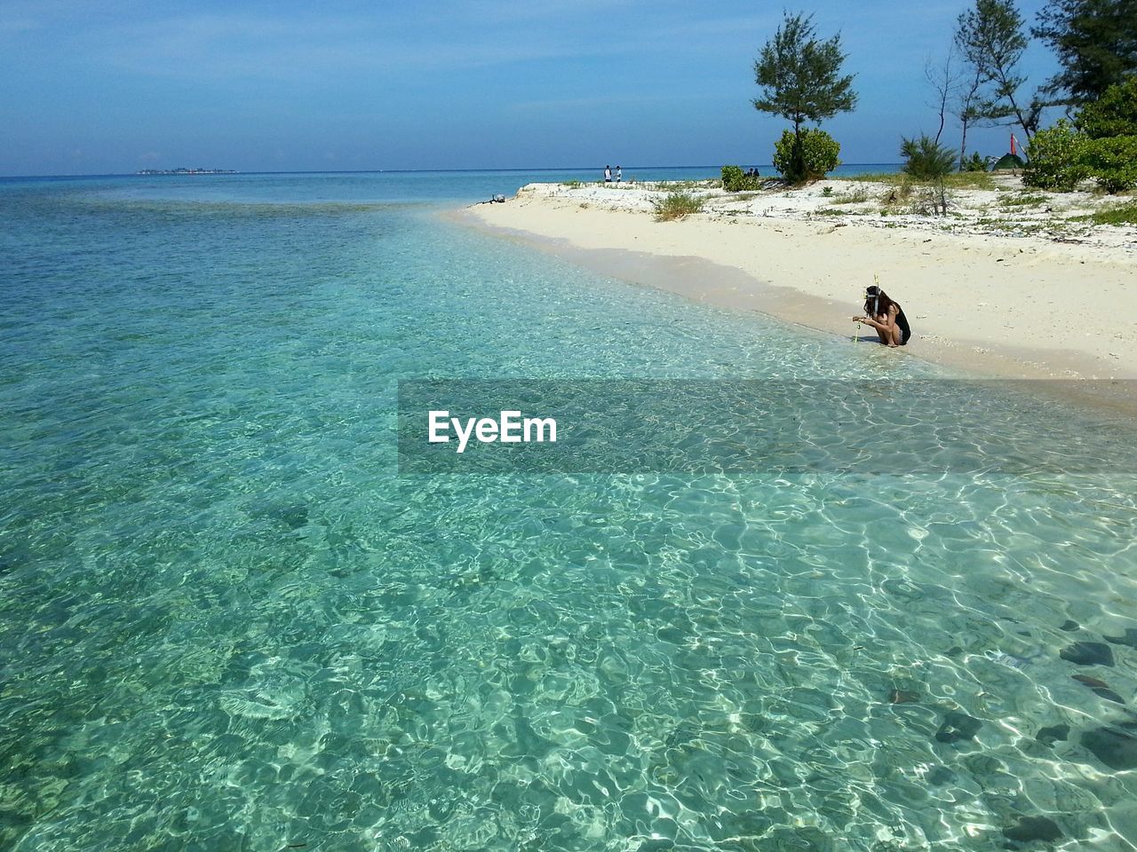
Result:
<svg viewBox="0 0 1137 852">
<path fill-rule="evenodd" d="M 858 106 L 823 124 L 841 160 L 896 162 L 936 133 L 924 67 L 966 6 L 2 0 L 0 175 L 769 164 L 788 124 L 754 109 L 754 61 L 786 9 L 848 53 Z M 1022 68 L 1029 100 L 1056 65 L 1032 42 Z"/>
</svg>

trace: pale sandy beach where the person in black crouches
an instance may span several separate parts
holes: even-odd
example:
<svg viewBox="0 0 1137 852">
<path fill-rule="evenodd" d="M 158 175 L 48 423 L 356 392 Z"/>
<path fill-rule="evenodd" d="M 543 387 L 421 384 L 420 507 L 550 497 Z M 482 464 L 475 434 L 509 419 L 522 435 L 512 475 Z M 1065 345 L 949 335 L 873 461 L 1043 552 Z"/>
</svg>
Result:
<svg viewBox="0 0 1137 852">
<path fill-rule="evenodd" d="M 1026 193 L 1007 176 L 954 191 L 936 217 L 883 209 L 887 185 L 835 179 L 688 187 L 704 211 L 657 222 L 670 189 L 530 184 L 459 217 L 613 277 L 847 337 L 877 275 L 912 324 L 904 356 L 1007 378 L 1137 378 L 1137 228 L 1077 218 L 1117 199 Z"/>
</svg>

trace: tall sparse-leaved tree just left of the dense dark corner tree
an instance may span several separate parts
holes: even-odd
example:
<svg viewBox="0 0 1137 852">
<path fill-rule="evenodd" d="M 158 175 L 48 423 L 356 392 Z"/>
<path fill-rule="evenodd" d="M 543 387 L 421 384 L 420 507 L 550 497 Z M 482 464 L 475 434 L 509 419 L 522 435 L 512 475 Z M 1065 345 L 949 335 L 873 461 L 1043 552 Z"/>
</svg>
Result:
<svg viewBox="0 0 1137 852">
<path fill-rule="evenodd" d="M 1020 105 L 1018 97 L 1027 82 L 1018 70 L 1027 36 L 1014 0 L 976 0 L 974 8 L 957 18 L 955 44 L 984 87 L 985 97 L 976 107 L 977 117 L 998 124 L 1014 116 L 1029 140 L 1038 130 L 1044 105 L 1037 99 Z"/>
</svg>

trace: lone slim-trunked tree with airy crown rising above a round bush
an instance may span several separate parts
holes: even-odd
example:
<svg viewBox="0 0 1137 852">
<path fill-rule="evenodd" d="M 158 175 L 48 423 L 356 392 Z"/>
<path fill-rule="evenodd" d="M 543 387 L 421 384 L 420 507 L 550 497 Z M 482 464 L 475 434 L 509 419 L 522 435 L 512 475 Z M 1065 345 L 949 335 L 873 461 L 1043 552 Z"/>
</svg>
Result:
<svg viewBox="0 0 1137 852">
<path fill-rule="evenodd" d="M 821 124 L 838 112 L 856 107 L 853 75 L 841 76 L 840 34 L 818 41 L 813 16 L 786 15 L 774 37 L 762 48 L 754 62 L 755 82 L 763 87 L 754 108 L 794 123 L 794 154 L 789 179 L 805 177 L 802 156 L 802 125 Z"/>
</svg>

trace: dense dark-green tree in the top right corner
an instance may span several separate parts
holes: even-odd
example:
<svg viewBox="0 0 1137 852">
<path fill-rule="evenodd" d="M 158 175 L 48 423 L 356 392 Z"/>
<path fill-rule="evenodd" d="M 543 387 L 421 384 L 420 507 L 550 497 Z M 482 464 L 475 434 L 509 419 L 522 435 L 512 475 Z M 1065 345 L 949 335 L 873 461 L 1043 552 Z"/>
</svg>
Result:
<svg viewBox="0 0 1137 852">
<path fill-rule="evenodd" d="M 1060 103 L 1096 100 L 1137 74 L 1137 0 L 1051 0 L 1030 32 L 1057 55 L 1062 70 L 1044 91 Z"/>
</svg>

